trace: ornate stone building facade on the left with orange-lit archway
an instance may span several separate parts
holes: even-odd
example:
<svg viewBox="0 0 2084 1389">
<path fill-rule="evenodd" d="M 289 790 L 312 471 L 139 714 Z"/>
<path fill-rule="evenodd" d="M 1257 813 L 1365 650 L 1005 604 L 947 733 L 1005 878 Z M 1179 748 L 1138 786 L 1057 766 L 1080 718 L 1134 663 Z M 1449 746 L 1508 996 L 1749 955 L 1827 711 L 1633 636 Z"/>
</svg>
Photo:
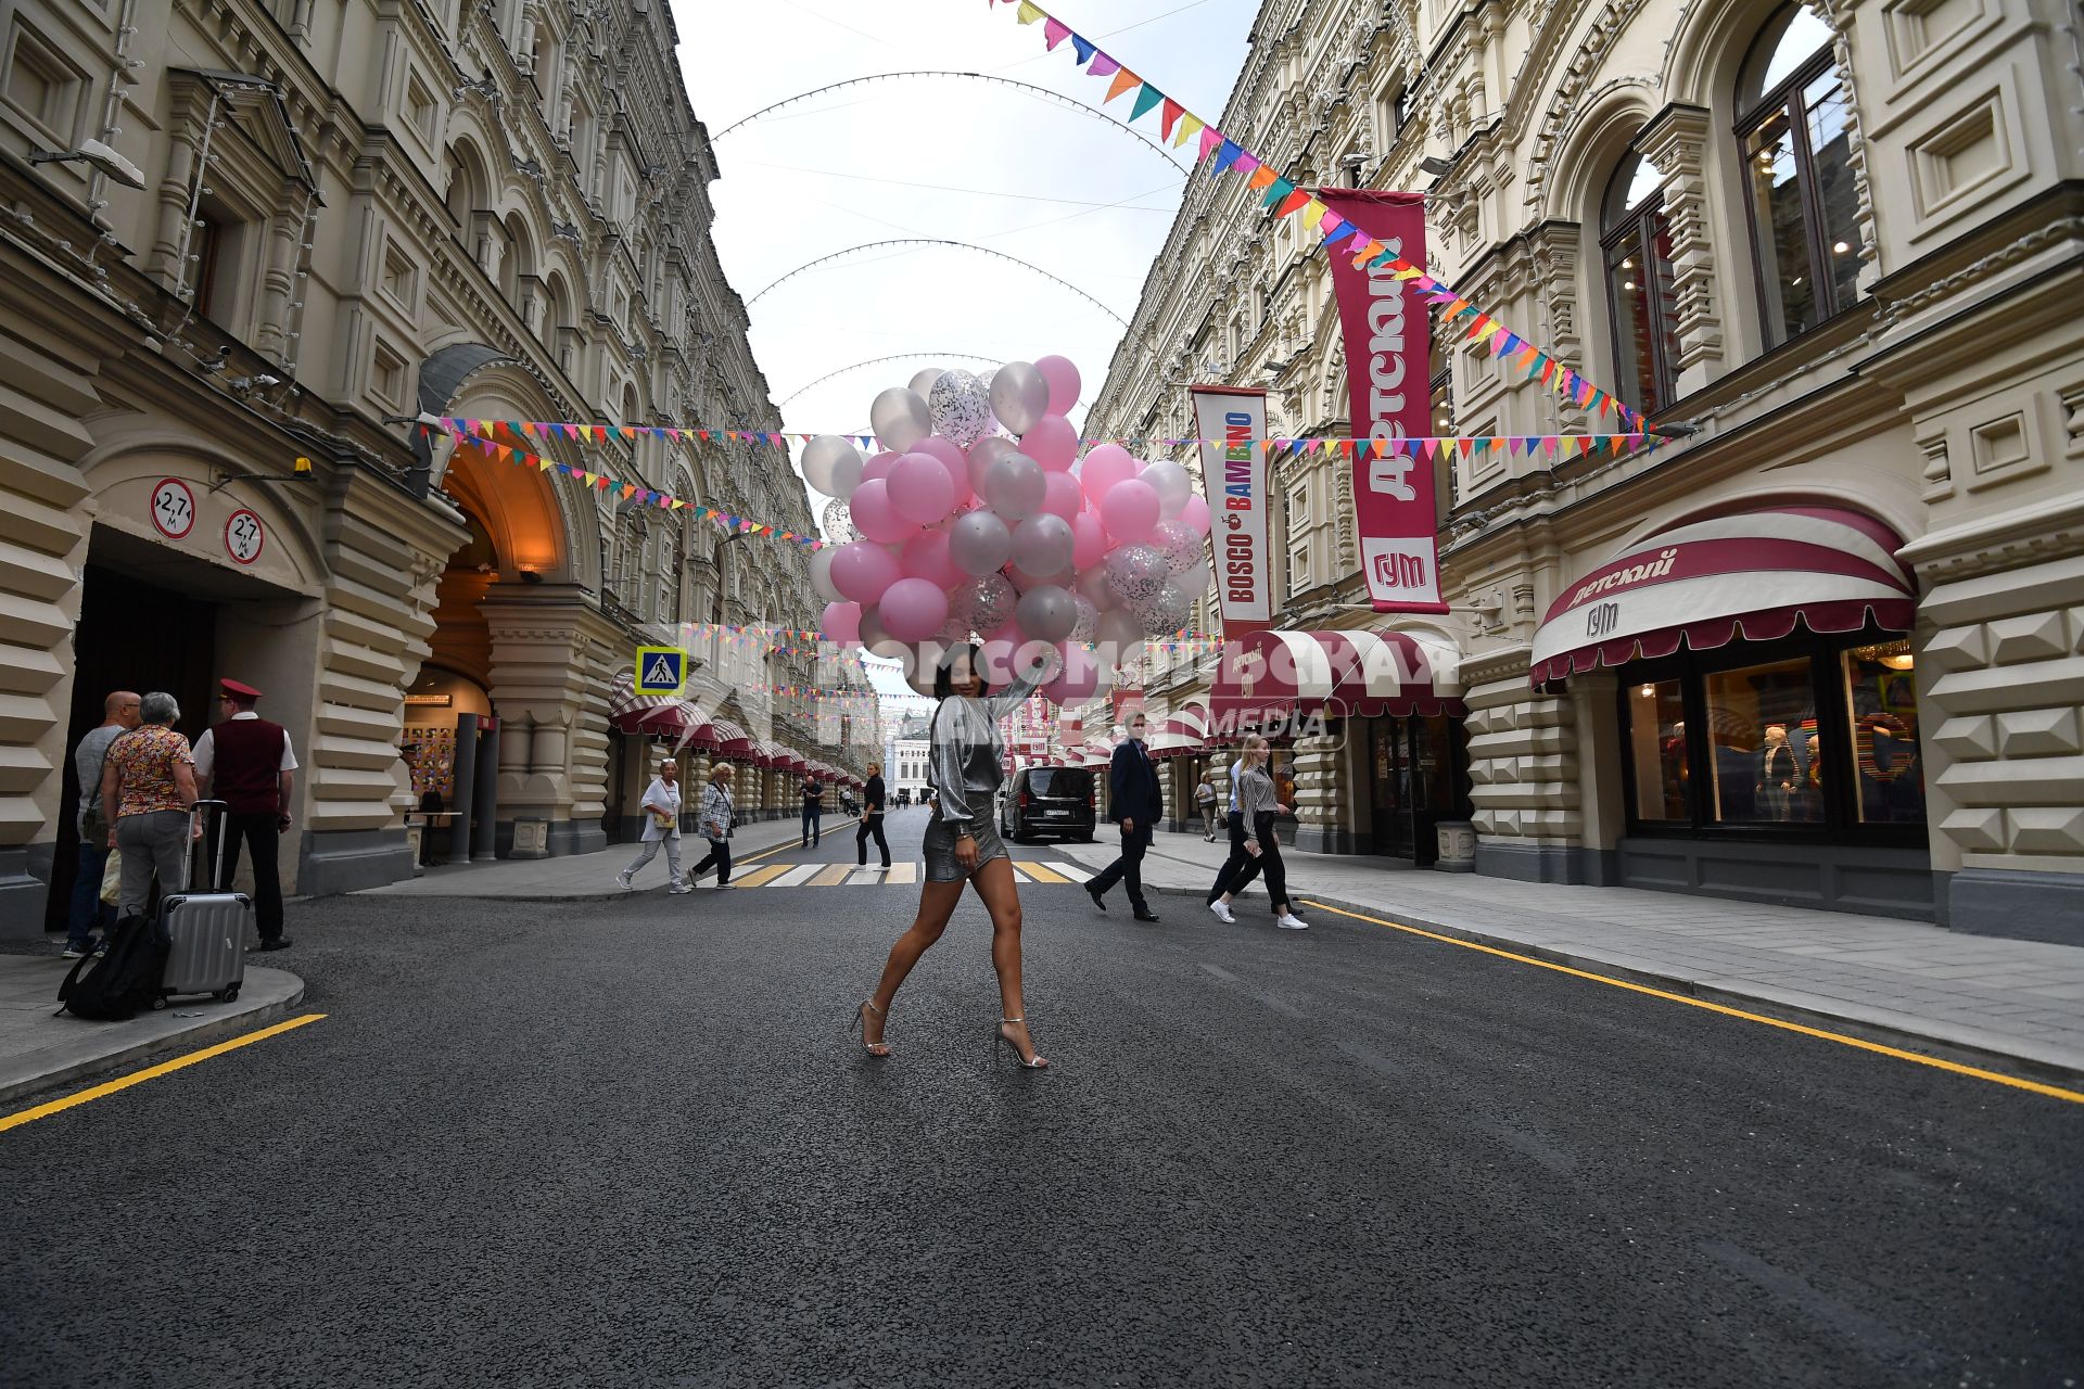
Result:
<svg viewBox="0 0 2084 1389">
<path fill-rule="evenodd" d="M 600 845 L 654 760 L 611 721 L 634 646 L 807 625 L 800 548 L 413 425 L 779 427 L 675 44 L 644 0 L 0 4 L 0 916 L 67 873 L 110 687 L 175 691 L 192 737 L 215 679 L 267 691 L 283 877 L 325 893 L 413 870 L 463 712 L 498 727 L 486 852 Z M 777 450 L 527 446 L 811 531 Z M 698 704 L 819 741 L 761 700 L 809 656 L 696 656 Z"/>
</svg>

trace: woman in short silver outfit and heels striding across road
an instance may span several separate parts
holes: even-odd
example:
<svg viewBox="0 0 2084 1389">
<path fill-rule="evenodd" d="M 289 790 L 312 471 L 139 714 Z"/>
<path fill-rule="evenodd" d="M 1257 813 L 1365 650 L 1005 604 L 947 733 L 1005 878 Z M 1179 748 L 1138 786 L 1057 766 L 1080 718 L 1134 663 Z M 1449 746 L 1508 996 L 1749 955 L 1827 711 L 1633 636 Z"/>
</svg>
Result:
<svg viewBox="0 0 2084 1389">
<path fill-rule="evenodd" d="M 1013 860 L 998 839 L 994 798 L 1004 779 L 1004 743 L 998 721 L 1025 700 L 1040 683 L 1042 662 L 992 693 L 984 683 L 982 656 L 975 646 L 959 646 L 942 656 L 934 673 L 932 752 L 927 783 L 938 806 L 925 827 L 925 883 L 919 887 L 919 914 L 911 929 L 890 948 L 875 997 L 854 1010 L 848 1029 L 861 1029 L 869 1056 L 890 1056 L 884 1041 L 884 1018 L 896 1002 L 898 987 L 927 945 L 948 929 L 954 904 L 963 900 L 963 883 L 977 889 L 984 910 L 992 914 L 992 968 L 998 970 L 998 1027 L 992 1050 L 1013 1047 L 1021 1066 L 1048 1066 L 1027 1037 L 1025 1004 L 1021 1002 L 1021 895 L 1013 885 Z"/>
</svg>

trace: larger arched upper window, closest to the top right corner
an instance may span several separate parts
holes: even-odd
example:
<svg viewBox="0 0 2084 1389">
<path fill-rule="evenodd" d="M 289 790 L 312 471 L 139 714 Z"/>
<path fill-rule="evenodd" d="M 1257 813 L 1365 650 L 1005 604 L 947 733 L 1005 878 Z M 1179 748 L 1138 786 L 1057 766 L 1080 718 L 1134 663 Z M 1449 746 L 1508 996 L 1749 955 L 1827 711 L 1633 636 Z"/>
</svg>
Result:
<svg viewBox="0 0 2084 1389">
<path fill-rule="evenodd" d="M 1759 33 L 1736 87 L 1765 337 L 1780 346 L 1849 308 L 1869 248 L 1853 187 L 1853 94 L 1832 31 L 1788 4 Z"/>
</svg>

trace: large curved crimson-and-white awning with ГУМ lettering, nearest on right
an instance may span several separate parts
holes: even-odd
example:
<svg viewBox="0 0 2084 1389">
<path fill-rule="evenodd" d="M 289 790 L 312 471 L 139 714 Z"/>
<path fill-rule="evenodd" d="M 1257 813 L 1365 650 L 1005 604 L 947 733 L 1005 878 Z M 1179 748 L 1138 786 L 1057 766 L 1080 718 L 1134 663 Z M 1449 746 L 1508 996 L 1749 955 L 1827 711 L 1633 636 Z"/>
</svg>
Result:
<svg viewBox="0 0 2084 1389">
<path fill-rule="evenodd" d="M 1696 652 L 1736 637 L 1909 631 L 1917 581 L 1896 560 L 1903 537 L 1838 506 L 1773 506 L 1694 521 L 1628 546 L 1571 583 L 1534 633 L 1532 679 Z"/>
</svg>

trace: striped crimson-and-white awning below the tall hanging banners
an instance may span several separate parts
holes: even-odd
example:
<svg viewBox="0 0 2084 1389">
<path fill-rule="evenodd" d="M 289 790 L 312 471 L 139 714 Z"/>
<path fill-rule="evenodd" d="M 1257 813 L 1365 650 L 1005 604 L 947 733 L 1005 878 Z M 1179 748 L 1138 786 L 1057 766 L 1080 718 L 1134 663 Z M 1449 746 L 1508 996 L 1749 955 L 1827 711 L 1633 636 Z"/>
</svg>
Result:
<svg viewBox="0 0 2084 1389">
<path fill-rule="evenodd" d="M 1207 733 L 1223 739 L 1240 727 L 1294 714 L 1375 718 L 1459 712 L 1461 652 L 1446 637 L 1265 629 L 1223 646 L 1209 691 Z"/>
</svg>

